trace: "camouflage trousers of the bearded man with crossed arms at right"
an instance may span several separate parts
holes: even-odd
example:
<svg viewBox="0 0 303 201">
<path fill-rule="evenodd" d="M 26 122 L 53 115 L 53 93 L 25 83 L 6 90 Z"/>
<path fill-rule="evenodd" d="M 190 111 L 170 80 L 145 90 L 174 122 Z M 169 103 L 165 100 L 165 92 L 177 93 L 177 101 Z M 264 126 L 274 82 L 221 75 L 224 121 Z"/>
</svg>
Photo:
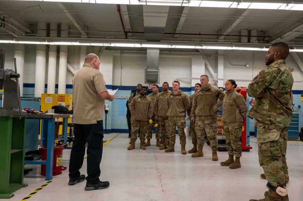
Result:
<svg viewBox="0 0 303 201">
<path fill-rule="evenodd" d="M 289 181 L 286 164 L 288 127 L 258 121 L 257 143 L 260 166 L 273 186 Z"/>
</svg>

